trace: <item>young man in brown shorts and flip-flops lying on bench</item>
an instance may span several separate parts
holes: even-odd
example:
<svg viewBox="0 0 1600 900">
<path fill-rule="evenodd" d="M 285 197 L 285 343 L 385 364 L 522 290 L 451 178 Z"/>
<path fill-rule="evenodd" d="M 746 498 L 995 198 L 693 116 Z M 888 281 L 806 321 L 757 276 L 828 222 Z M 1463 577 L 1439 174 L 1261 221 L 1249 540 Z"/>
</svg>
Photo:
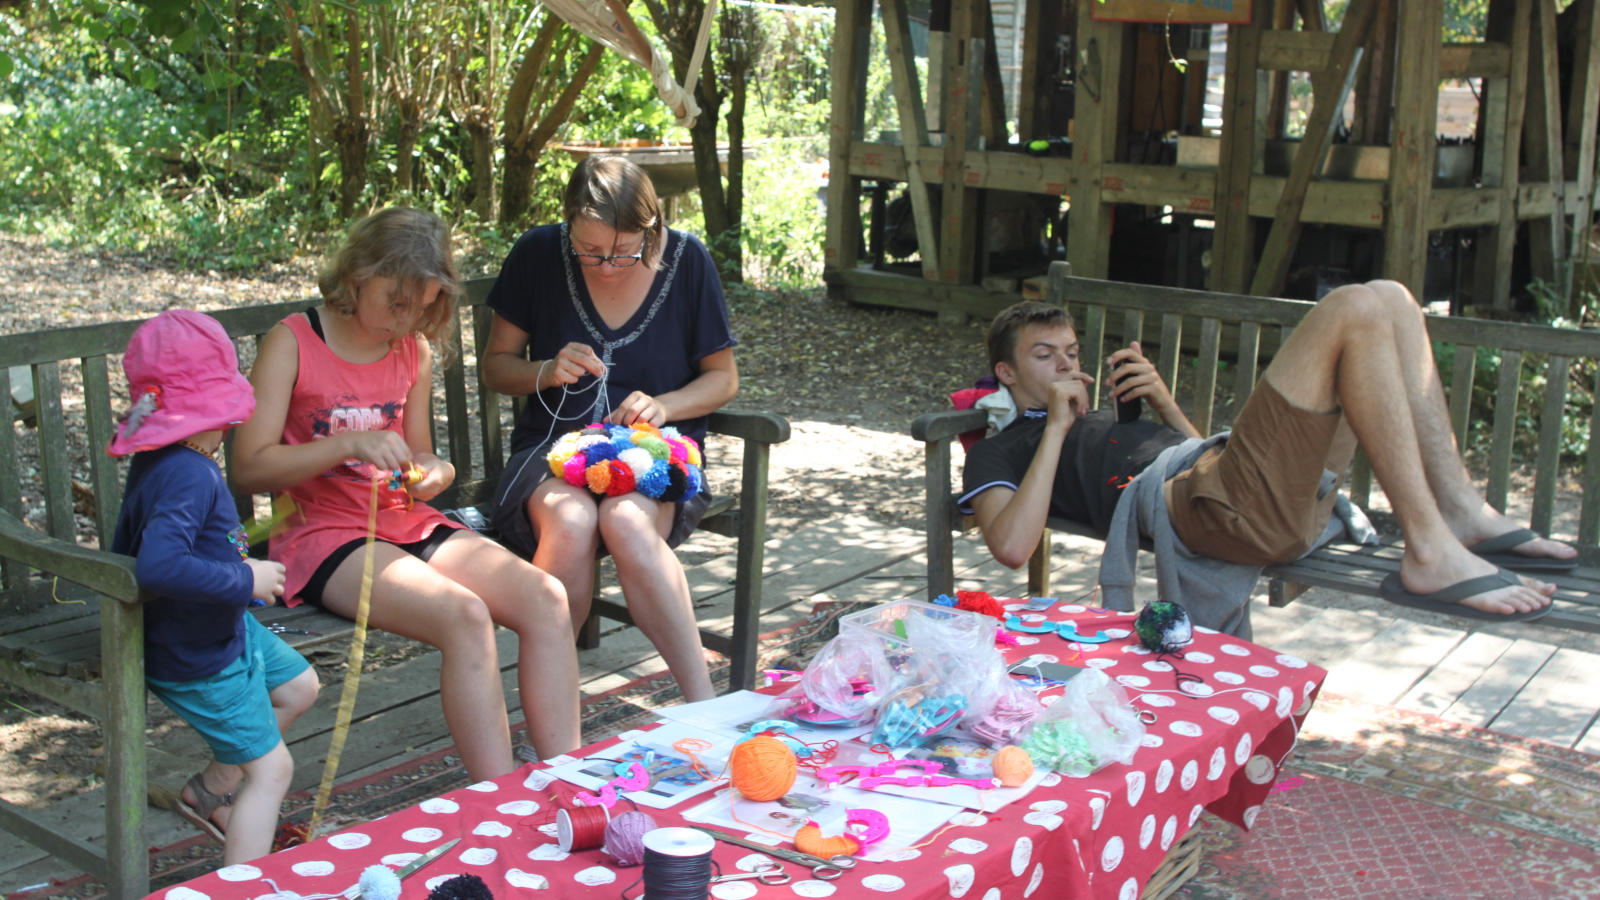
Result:
<svg viewBox="0 0 1600 900">
<path fill-rule="evenodd" d="M 968 452 L 962 509 L 1013 569 L 1051 516 L 1107 533 L 1101 588 L 1110 609 L 1133 609 L 1142 535 L 1155 546 L 1163 597 L 1182 602 L 1197 625 L 1248 637 L 1261 569 L 1341 530 L 1330 519 L 1342 500 L 1334 472 L 1347 469 L 1357 444 L 1405 535 L 1384 599 L 1531 620 L 1549 612 L 1555 588 L 1506 569 L 1576 565 L 1573 548 L 1515 525 L 1472 487 L 1422 311 L 1400 283 L 1346 285 L 1323 298 L 1275 354 L 1234 431 L 1210 439 L 1138 343 L 1109 357 L 1110 392 L 1149 404 L 1162 423 L 1091 412 L 1093 378 L 1078 368 L 1072 317 L 1061 307 L 1013 304 L 995 317 L 987 344 L 1019 415 Z"/>
</svg>

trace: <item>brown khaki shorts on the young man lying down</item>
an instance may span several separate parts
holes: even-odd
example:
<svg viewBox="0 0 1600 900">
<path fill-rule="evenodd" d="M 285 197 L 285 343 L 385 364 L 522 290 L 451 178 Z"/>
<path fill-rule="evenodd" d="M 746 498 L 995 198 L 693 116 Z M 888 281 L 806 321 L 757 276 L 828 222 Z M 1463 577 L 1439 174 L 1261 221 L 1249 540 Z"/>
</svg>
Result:
<svg viewBox="0 0 1600 900">
<path fill-rule="evenodd" d="M 1290 405 L 1261 380 L 1227 444 L 1166 482 L 1166 512 L 1189 549 L 1245 565 L 1299 559 L 1333 512 L 1317 496 L 1341 413 Z"/>
</svg>

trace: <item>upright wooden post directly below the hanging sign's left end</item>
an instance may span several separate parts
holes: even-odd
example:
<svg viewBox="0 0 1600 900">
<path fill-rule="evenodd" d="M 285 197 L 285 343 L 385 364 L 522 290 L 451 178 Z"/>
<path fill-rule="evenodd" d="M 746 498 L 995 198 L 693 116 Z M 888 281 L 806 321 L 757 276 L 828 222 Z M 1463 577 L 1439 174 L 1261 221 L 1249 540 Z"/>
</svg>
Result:
<svg viewBox="0 0 1600 900">
<path fill-rule="evenodd" d="M 1104 279 L 1110 271 L 1112 207 L 1106 202 L 1101 168 L 1117 159 L 1123 93 L 1120 78 L 1128 26 L 1094 21 L 1090 16 L 1091 6 L 1093 3 L 1078 2 L 1067 261 L 1078 275 Z"/>
</svg>

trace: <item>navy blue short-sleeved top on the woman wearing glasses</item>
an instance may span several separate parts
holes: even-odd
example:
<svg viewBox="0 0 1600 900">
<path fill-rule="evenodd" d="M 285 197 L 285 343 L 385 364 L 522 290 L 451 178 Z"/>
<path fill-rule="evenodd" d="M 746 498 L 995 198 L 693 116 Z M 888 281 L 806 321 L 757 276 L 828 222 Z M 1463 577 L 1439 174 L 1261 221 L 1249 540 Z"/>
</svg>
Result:
<svg viewBox="0 0 1600 900">
<path fill-rule="evenodd" d="M 621 328 L 606 327 L 595 311 L 565 224 L 539 226 L 517 240 L 488 304 L 528 333 L 528 359 L 552 359 L 578 341 L 608 365 L 608 399 L 600 399 L 590 375 L 568 384 L 565 397 L 558 386 L 530 396 L 510 436 L 512 453 L 600 421 L 634 391 L 651 397 L 677 391 L 699 376 L 699 360 L 736 344 L 710 253 L 682 231 L 667 232 L 650 293 Z M 552 421 L 546 405 L 558 420 Z M 706 445 L 706 416 L 667 424 Z"/>
</svg>

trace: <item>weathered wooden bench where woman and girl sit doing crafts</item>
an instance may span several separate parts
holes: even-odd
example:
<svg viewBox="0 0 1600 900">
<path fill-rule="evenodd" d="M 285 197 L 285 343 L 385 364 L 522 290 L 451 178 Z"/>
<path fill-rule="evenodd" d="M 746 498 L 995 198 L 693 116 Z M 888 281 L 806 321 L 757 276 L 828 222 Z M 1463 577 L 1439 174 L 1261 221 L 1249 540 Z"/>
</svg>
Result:
<svg viewBox="0 0 1600 900">
<path fill-rule="evenodd" d="M 493 317 L 483 306 L 491 285 L 493 279 L 467 283 L 464 328 L 454 338 L 458 352 L 438 373 L 445 402 L 435 412 L 435 442 L 438 453 L 456 466 L 456 484 L 435 500 L 442 509 L 488 501 L 506 458 L 509 428 L 502 423 L 515 421 L 523 400 L 501 397 L 475 376 L 469 391 L 467 365 L 477 356 L 459 352 L 461 335 L 470 333 L 482 351 Z M 253 346 L 280 319 L 315 303 L 214 315 L 229 335 L 250 338 Z M 122 354 L 138 325 L 112 322 L 0 336 L 0 397 L 11 394 L 13 373 L 30 372 L 38 413 L 37 431 L 21 421 L 0 428 L 0 609 L 5 612 L 0 681 L 99 719 L 106 740 L 106 844 L 88 846 L 50 826 L 45 817 L 5 802 L 0 802 L 0 828 L 104 879 L 110 897 L 141 897 L 149 890 L 144 618 L 133 559 L 82 546 L 78 516 L 86 517 L 88 532 L 101 546 L 110 544 L 122 476 L 104 448 L 115 426 L 114 413 L 126 402 L 112 400 L 112 384 L 122 383 L 122 372 L 109 357 Z M 242 357 L 248 365 L 253 349 L 246 348 Z M 504 415 L 507 400 L 510 415 Z M 67 416 L 80 426 L 72 429 L 72 440 Z M 731 687 L 744 689 L 755 682 L 768 458 L 773 444 L 789 439 L 789 423 L 770 413 L 722 410 L 710 416 L 710 431 L 739 439 L 742 453 L 736 463 L 714 460 L 709 480 L 723 492 L 701 522 L 701 528 L 738 543 L 733 631 L 702 628 L 701 639 L 730 658 Z M 86 479 L 80 479 L 85 469 Z M 726 484 L 733 471 L 738 471 L 736 490 Z M 235 501 L 246 524 L 256 520 L 258 506 L 266 514 L 264 498 L 235 495 Z M 26 508 L 40 506 L 42 525 L 24 524 Z M 296 649 L 341 641 L 354 631 L 347 620 L 304 605 L 256 612 L 264 621 L 314 633 L 285 634 Z M 581 645 L 598 644 L 602 615 L 630 621 L 624 604 L 597 597 L 581 629 Z"/>
</svg>

